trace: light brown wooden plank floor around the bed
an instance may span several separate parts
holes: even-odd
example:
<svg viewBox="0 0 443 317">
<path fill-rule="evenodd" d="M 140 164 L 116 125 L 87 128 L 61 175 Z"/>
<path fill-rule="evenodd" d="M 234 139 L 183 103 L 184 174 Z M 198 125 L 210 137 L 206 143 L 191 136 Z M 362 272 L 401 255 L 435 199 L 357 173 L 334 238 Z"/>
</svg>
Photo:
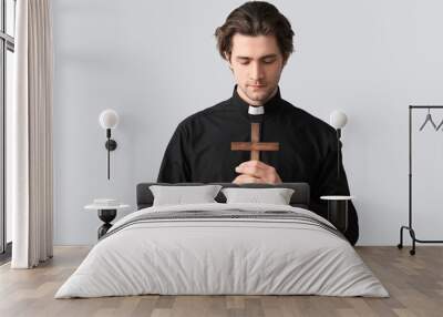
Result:
<svg viewBox="0 0 443 317">
<path fill-rule="evenodd" d="M 391 297 L 132 296 L 53 299 L 86 247 L 56 247 L 35 269 L 0 267 L 0 316 L 443 316 L 443 247 L 358 247 Z"/>
</svg>

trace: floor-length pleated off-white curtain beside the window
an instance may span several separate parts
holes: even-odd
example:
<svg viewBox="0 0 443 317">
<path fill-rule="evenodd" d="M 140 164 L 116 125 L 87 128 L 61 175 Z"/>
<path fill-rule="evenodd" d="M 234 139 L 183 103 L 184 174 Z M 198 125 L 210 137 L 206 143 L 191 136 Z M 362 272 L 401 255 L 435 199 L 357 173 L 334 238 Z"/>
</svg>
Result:
<svg viewBox="0 0 443 317">
<path fill-rule="evenodd" d="M 14 101 L 7 151 L 13 268 L 52 257 L 52 17 L 50 0 L 18 0 Z M 8 164 L 7 163 L 7 164 Z"/>
</svg>

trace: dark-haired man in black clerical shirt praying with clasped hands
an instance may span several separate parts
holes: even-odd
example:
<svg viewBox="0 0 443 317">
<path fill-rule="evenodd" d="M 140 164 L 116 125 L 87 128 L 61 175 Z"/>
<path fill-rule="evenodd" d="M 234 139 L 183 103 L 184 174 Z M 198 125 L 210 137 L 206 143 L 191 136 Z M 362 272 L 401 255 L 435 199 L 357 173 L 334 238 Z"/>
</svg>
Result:
<svg viewBox="0 0 443 317">
<path fill-rule="evenodd" d="M 342 166 L 337 177 L 336 131 L 280 96 L 280 74 L 293 51 L 289 21 L 270 3 L 246 2 L 228 16 L 215 35 L 237 83 L 233 98 L 177 126 L 157 182 L 307 182 L 310 209 L 326 217 L 327 205 L 320 196 L 349 195 L 348 181 Z M 279 150 L 261 152 L 259 161 L 251 161 L 249 152 L 231 151 L 230 144 L 250 141 L 250 113 L 259 110 L 264 111 L 260 141 L 278 142 Z M 351 244 L 359 236 L 352 204 L 344 235 Z"/>
</svg>

